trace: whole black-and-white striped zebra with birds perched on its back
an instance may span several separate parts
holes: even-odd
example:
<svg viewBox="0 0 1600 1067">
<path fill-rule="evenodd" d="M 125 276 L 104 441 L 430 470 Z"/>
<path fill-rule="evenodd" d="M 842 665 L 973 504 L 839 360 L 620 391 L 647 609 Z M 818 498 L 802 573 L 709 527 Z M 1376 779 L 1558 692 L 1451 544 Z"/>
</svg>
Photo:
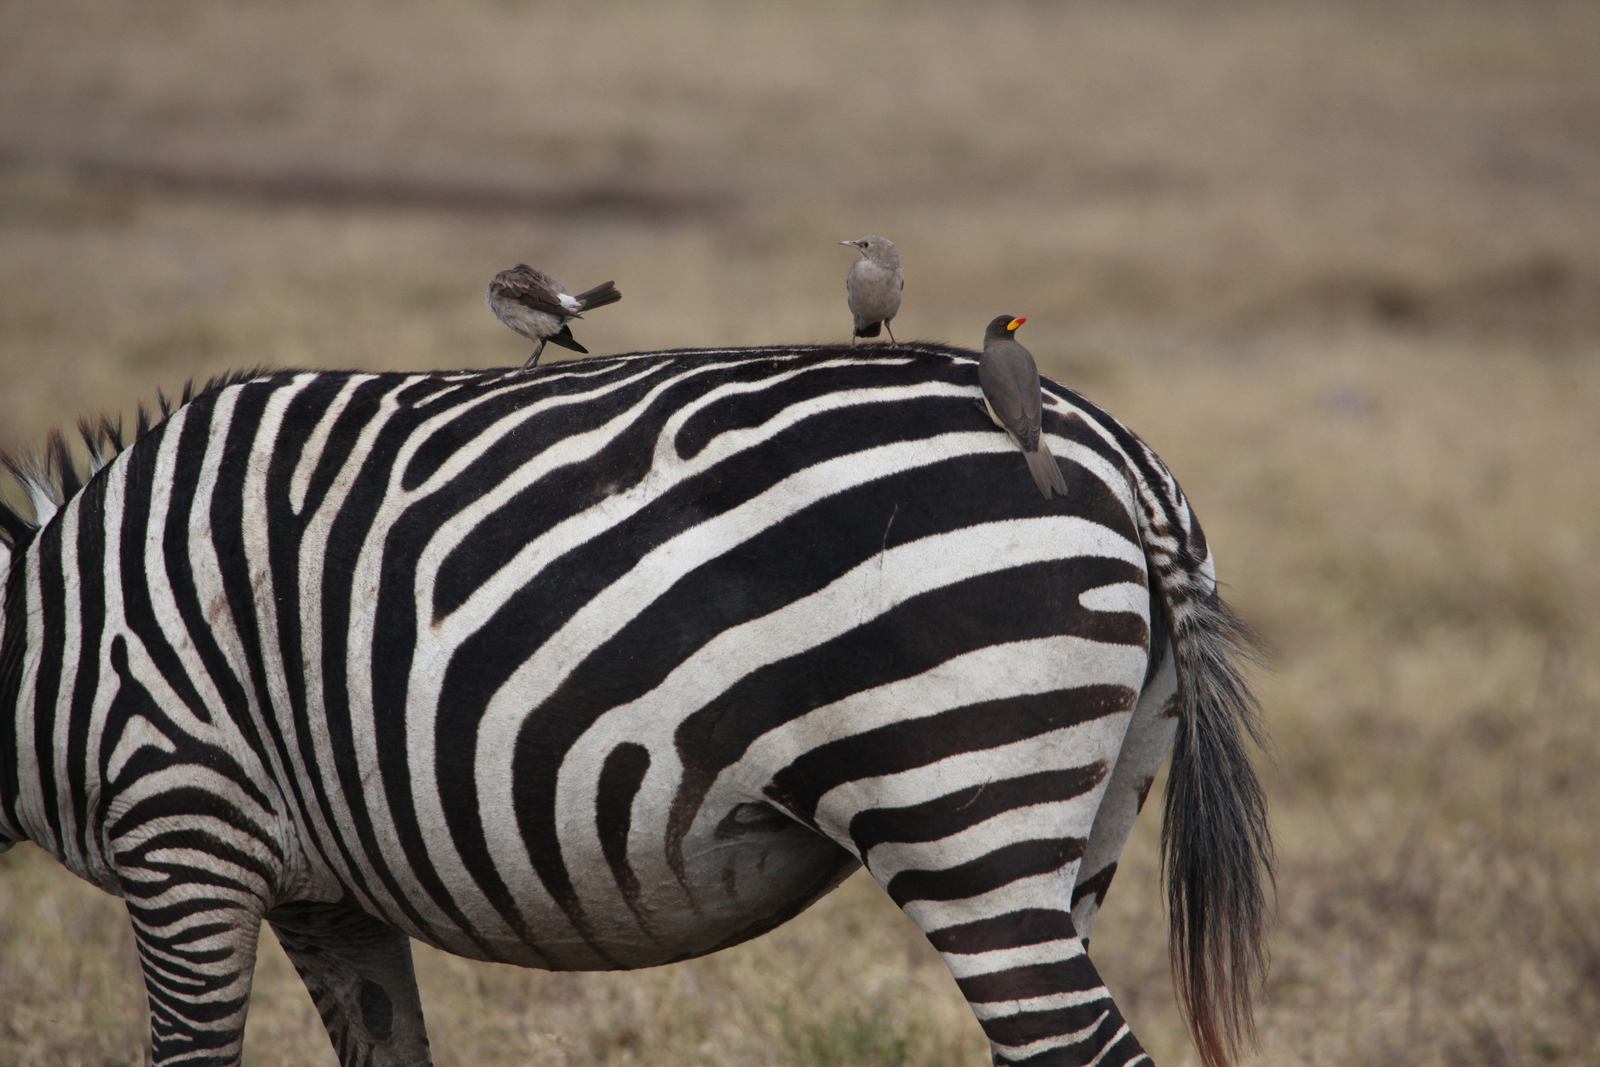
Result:
<svg viewBox="0 0 1600 1067">
<path fill-rule="evenodd" d="M 254 371 L 10 461 L 0 848 L 125 899 L 157 1067 L 237 1064 L 261 921 L 339 1062 L 429 1064 L 410 939 L 547 969 L 755 937 L 866 865 L 997 1064 L 1147 1062 L 1086 953 L 1160 765 L 1174 982 L 1251 1037 L 1250 633 L 1178 483 L 978 354 Z"/>
</svg>

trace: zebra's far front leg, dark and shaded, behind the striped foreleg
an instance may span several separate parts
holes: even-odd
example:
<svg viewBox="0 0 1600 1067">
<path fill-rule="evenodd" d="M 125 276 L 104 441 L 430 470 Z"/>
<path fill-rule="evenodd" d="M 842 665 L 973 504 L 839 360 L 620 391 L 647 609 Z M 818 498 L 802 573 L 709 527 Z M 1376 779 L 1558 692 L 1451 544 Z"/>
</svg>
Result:
<svg viewBox="0 0 1600 1067">
<path fill-rule="evenodd" d="M 342 1067 L 427 1067 L 411 939 L 342 904 L 283 904 L 267 913 Z"/>
</svg>

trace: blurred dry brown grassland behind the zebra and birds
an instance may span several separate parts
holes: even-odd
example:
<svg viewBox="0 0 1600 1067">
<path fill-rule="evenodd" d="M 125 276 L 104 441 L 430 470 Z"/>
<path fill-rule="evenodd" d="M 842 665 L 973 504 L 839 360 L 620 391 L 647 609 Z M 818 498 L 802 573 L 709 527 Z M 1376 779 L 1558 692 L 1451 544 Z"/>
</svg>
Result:
<svg viewBox="0 0 1600 1067">
<path fill-rule="evenodd" d="M 1280 849 L 1259 1064 L 1600 1064 L 1600 5 L 0 0 L 0 446 L 238 366 L 896 333 L 1042 370 L 1182 480 Z M 555 349 L 549 355 L 563 355 Z M 549 358 L 547 355 L 547 358 Z M 1094 957 L 1162 1064 L 1157 813 Z M 442 1065 L 976 1065 L 856 877 L 637 974 L 418 950 Z M 0 857 L 0 1064 L 144 1062 L 120 904 Z M 334 1064 L 264 934 L 250 1064 Z"/>
</svg>

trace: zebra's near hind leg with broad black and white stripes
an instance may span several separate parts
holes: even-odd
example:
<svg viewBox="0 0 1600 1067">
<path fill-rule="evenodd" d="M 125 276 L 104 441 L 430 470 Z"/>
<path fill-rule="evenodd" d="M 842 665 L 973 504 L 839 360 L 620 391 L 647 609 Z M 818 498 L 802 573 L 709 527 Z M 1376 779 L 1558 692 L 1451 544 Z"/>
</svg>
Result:
<svg viewBox="0 0 1600 1067">
<path fill-rule="evenodd" d="M 987 781 L 986 768 L 1003 768 L 950 760 L 858 787 L 866 803 L 848 819 L 850 840 L 944 957 L 997 1064 L 1149 1064 L 1090 961 L 1070 902 L 1109 771 L 1094 757 L 1114 755 L 1126 725 L 1126 715 L 1110 715 L 1058 733 L 1034 763 L 1054 755 L 1048 769 Z M 1070 744 L 1088 731 L 1104 742 Z M 938 792 L 958 773 L 984 781 Z M 832 792 L 846 800 L 846 790 Z"/>
</svg>

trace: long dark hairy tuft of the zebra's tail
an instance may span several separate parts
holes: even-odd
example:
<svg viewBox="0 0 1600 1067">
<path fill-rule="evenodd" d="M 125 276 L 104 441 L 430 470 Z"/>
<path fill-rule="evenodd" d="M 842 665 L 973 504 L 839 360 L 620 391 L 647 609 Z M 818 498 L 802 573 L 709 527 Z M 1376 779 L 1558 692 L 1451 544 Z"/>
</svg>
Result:
<svg viewBox="0 0 1600 1067">
<path fill-rule="evenodd" d="M 1186 518 L 1194 523 L 1192 514 Z M 1178 669 L 1178 736 L 1162 824 L 1168 952 L 1200 1059 L 1226 1067 L 1254 1041 L 1251 1001 L 1267 969 L 1272 913 L 1267 800 L 1246 747 L 1246 739 L 1261 745 L 1264 737 L 1240 672 L 1259 659 L 1254 633 L 1222 603 L 1210 568 L 1197 565 L 1192 550 L 1162 555 L 1152 552 L 1152 569 Z"/>
</svg>

